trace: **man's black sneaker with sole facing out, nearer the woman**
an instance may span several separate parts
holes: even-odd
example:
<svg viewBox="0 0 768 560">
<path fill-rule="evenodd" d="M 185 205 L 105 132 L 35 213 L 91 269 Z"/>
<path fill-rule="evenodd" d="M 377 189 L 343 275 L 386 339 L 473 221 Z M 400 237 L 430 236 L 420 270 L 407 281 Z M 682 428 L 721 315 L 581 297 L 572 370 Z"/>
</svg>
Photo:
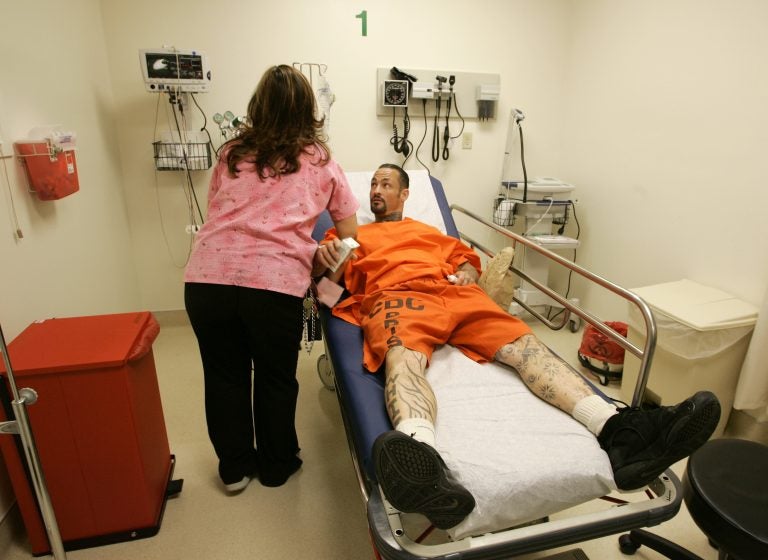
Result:
<svg viewBox="0 0 768 560">
<path fill-rule="evenodd" d="M 373 444 L 376 478 L 384 495 L 404 513 L 420 513 L 438 529 L 450 529 L 475 507 L 472 494 L 451 476 L 440 454 L 398 431 Z"/>
</svg>

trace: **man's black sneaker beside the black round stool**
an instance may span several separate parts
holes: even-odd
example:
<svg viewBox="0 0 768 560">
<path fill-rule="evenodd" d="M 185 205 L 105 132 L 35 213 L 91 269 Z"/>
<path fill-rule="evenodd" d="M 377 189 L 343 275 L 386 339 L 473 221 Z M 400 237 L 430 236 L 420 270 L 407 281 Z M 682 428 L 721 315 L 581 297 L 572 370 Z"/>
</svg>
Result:
<svg viewBox="0 0 768 560">
<path fill-rule="evenodd" d="M 597 437 L 621 490 L 635 490 L 701 447 L 720 420 L 720 403 L 700 391 L 676 406 L 623 408 Z"/>
</svg>

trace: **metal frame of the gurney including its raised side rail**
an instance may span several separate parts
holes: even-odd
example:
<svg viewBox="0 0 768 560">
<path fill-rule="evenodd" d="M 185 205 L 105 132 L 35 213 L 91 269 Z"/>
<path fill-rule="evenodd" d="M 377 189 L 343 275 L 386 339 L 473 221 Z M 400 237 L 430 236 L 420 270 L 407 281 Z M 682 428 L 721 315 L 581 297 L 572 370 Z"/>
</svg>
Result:
<svg viewBox="0 0 768 560">
<path fill-rule="evenodd" d="M 564 308 L 562 319 L 555 324 L 536 309 L 530 308 L 524 302 L 517 301 L 526 311 L 539 319 L 543 324 L 557 330 L 568 324 L 571 320 L 570 314 L 575 314 L 640 359 L 640 372 L 632 404 L 637 406 L 641 403 L 656 345 L 656 325 L 648 305 L 632 292 L 589 272 L 524 236 L 497 226 L 460 206 L 450 206 L 449 210 L 445 202 L 442 185 L 433 177 L 431 181 L 438 202 L 441 204 L 443 216 L 446 220 L 446 229 L 449 234 L 457 235 L 476 250 L 485 253 L 487 256 L 493 256 L 492 251 L 489 251 L 476 240 L 460 233 L 455 227 L 452 213 L 466 215 L 477 223 L 505 236 L 513 245 L 521 244 L 526 247 L 526 250 L 538 251 L 553 262 L 580 275 L 587 281 L 613 292 L 637 307 L 645 321 L 646 327 L 646 340 L 642 348 L 635 346 L 621 334 L 605 325 L 604 321 L 595 314 L 575 304 L 573 301 L 567 300 L 548 286 L 542 285 L 524 271 L 510 266 L 511 272 L 541 290 Z M 392 508 L 380 493 L 375 475 L 373 475 L 370 464 L 366 460 L 370 450 L 361 449 L 361 446 L 366 445 L 361 443 L 364 441 L 364 439 L 361 439 L 361 430 L 364 430 L 364 428 L 355 425 L 348 410 L 350 399 L 353 396 L 356 397 L 356 394 L 352 394 L 353 391 L 349 386 L 348 374 L 344 370 L 345 367 L 349 369 L 349 366 L 345 366 L 342 363 L 340 354 L 348 352 L 348 349 L 354 347 L 358 340 L 362 346 L 362 334 L 354 331 L 357 327 L 331 316 L 327 309 L 322 310 L 321 320 L 327 356 L 330 358 L 330 360 L 325 358 L 325 365 L 333 369 L 336 377 L 335 390 L 340 404 L 341 416 L 361 495 L 367 510 L 371 539 L 378 558 L 386 560 L 426 558 L 441 560 L 501 560 L 531 552 L 550 550 L 585 540 L 614 534 L 618 535 L 635 528 L 657 525 L 671 519 L 679 511 L 682 503 L 680 480 L 668 469 L 649 484 L 644 493 L 634 493 L 630 497 L 606 497 L 605 499 L 613 503 L 614 506 L 600 511 L 574 512 L 574 515 L 563 518 L 548 519 L 542 523 L 513 527 L 479 536 L 466 537 L 457 541 L 441 542 L 438 544 L 422 544 L 417 542 L 419 539 L 412 538 L 403 528 L 402 514 Z M 342 333 L 340 337 L 335 337 L 334 329 L 342 329 L 346 332 Z M 359 329 L 357 330 L 359 331 Z M 352 339 L 351 344 L 350 338 Z M 357 352 L 357 350 L 354 352 Z M 360 350 L 359 354 L 362 357 L 362 350 Z M 357 359 L 357 356 L 355 356 L 353 361 Z M 370 374 L 368 375 L 370 376 Z"/>
</svg>

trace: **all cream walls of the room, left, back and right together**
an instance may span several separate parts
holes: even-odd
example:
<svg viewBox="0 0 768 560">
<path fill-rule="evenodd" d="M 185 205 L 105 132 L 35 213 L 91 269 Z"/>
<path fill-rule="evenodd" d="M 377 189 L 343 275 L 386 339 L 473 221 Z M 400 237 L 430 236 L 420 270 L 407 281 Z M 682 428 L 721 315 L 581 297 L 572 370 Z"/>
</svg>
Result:
<svg viewBox="0 0 768 560">
<path fill-rule="evenodd" d="M 364 9 L 367 37 L 355 18 Z M 268 65 L 327 64 L 331 146 L 348 170 L 398 161 L 391 120 L 375 116 L 377 67 L 499 73 L 498 114 L 527 116 L 529 175 L 578 187 L 579 262 L 629 287 L 687 276 L 759 303 L 767 10 L 761 0 L 2 2 L 0 134 L 9 147 L 41 124 L 77 131 L 81 178 L 79 193 L 39 202 L 4 160 L 17 241 L 0 168 L 6 337 L 41 317 L 182 307 L 187 200 L 178 174 L 153 171 L 158 97 L 144 91 L 138 63 L 140 48 L 162 45 L 210 56 L 213 91 L 197 99 L 212 133 L 212 114 L 242 113 Z M 199 128 L 199 113 L 187 114 Z M 453 202 L 489 216 L 506 118 L 466 130 L 473 149 L 455 146 L 433 173 Z M 422 133 L 414 121 L 412 135 Z M 421 155 L 431 164 L 429 138 Z M 194 175 L 204 205 L 208 173 Z M 624 312 L 579 285 L 573 295 Z M 11 503 L 0 469 L 0 516 Z"/>
</svg>

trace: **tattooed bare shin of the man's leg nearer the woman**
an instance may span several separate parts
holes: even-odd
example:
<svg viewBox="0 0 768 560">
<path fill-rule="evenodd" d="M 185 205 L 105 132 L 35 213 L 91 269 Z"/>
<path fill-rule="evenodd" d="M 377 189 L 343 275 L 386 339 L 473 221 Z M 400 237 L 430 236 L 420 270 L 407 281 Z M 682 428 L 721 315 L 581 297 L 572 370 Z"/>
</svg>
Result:
<svg viewBox="0 0 768 560">
<path fill-rule="evenodd" d="M 434 423 L 437 403 L 424 373 L 427 357 L 421 352 L 396 346 L 387 352 L 385 400 L 393 426 L 406 418 L 424 418 Z"/>
</svg>

